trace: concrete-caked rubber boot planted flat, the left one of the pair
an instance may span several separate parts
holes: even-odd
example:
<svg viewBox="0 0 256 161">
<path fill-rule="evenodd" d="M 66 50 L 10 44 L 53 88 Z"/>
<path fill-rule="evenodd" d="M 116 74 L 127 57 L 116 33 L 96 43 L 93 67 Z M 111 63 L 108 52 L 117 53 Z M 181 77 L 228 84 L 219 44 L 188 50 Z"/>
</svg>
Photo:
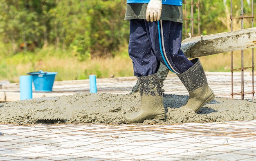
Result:
<svg viewBox="0 0 256 161">
<path fill-rule="evenodd" d="M 138 77 L 141 107 L 137 112 L 126 113 L 124 121 L 141 123 L 146 119 L 165 119 L 162 87 L 157 74 Z"/>
</svg>

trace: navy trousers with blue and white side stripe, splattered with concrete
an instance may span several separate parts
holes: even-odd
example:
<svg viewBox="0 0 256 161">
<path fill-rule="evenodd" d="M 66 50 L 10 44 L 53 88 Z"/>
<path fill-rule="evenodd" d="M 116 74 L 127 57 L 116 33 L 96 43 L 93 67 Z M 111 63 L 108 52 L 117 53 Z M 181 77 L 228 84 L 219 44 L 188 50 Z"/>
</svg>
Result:
<svg viewBox="0 0 256 161">
<path fill-rule="evenodd" d="M 149 76 L 160 62 L 171 72 L 181 74 L 193 66 L 180 50 L 182 23 L 159 20 L 130 20 L 129 56 L 135 76 Z"/>
</svg>

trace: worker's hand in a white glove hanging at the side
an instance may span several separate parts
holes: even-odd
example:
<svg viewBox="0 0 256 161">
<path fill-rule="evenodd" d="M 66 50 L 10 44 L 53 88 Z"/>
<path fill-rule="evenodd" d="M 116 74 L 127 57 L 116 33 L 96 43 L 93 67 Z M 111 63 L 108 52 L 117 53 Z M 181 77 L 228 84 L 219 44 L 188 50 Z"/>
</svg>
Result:
<svg viewBox="0 0 256 161">
<path fill-rule="evenodd" d="M 150 0 L 146 9 L 146 20 L 150 22 L 160 20 L 162 13 L 162 0 Z"/>
</svg>

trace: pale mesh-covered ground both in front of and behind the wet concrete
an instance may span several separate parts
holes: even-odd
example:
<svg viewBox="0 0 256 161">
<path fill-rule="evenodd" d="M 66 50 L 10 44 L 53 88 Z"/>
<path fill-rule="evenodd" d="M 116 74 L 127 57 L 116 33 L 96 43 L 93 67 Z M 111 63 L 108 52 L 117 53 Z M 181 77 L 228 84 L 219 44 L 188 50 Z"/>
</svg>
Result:
<svg viewBox="0 0 256 161">
<path fill-rule="evenodd" d="M 231 73 L 206 74 L 216 98 L 230 99 Z M 245 92 L 252 92 L 252 74 L 245 73 L 244 78 Z M 233 79 L 234 93 L 241 92 L 240 72 L 234 73 Z M 97 92 L 129 94 L 136 81 L 135 77 L 97 79 Z M 188 95 L 175 74 L 168 74 L 163 89 L 167 95 Z M 89 92 L 89 80 L 56 81 L 52 92 L 34 92 L 33 88 L 33 98 Z M 0 101 L 19 103 L 19 99 L 18 83 L 0 86 Z M 234 95 L 234 101 L 240 99 L 241 95 Z M 250 102 L 247 108 L 254 112 L 253 95 L 246 94 L 245 100 Z M 0 104 L 0 111 L 4 105 Z M 0 160 L 255 161 L 256 120 L 172 124 L 1 123 Z"/>
</svg>

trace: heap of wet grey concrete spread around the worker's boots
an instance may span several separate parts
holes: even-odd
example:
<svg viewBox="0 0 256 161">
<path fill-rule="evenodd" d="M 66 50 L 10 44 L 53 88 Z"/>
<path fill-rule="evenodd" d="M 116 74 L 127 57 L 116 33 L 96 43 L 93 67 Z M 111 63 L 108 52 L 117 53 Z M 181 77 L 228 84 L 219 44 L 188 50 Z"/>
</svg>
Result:
<svg viewBox="0 0 256 161">
<path fill-rule="evenodd" d="M 256 104 L 247 100 L 215 98 L 197 113 L 180 110 L 188 96 L 164 94 L 165 120 L 145 120 L 141 124 L 225 122 L 256 119 Z M 90 94 L 33 98 L 0 103 L 0 123 L 124 123 L 126 112 L 140 106 L 139 94 Z"/>
</svg>

